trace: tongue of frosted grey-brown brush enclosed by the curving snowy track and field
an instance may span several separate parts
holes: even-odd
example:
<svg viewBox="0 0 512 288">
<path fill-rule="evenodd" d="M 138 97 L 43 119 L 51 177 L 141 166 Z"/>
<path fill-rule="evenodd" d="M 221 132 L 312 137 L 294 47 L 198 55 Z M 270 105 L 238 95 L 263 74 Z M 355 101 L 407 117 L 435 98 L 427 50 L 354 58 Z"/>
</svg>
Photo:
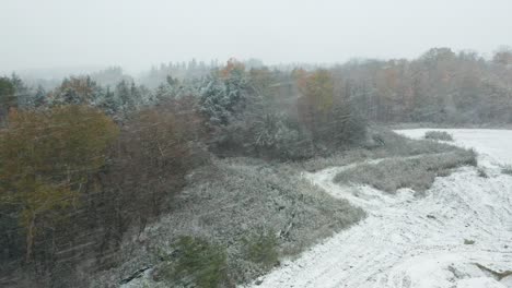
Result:
<svg viewBox="0 0 512 288">
<path fill-rule="evenodd" d="M 335 182 L 368 184 L 387 193 L 396 193 L 400 188 L 421 193 L 432 185 L 435 177 L 447 176 L 452 169 L 461 166 L 476 166 L 475 152 L 458 149 L 363 164 L 341 171 L 335 177 Z"/>
</svg>

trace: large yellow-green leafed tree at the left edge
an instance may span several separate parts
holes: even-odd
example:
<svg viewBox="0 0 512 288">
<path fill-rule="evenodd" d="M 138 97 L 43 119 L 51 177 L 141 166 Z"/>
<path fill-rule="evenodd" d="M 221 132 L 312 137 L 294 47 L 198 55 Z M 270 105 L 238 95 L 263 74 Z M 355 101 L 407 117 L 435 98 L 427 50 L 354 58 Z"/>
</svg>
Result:
<svg viewBox="0 0 512 288">
<path fill-rule="evenodd" d="M 31 260 L 37 219 L 77 200 L 88 177 L 105 163 L 117 125 L 85 106 L 11 110 L 0 130 L 0 204 L 20 212 Z"/>
</svg>

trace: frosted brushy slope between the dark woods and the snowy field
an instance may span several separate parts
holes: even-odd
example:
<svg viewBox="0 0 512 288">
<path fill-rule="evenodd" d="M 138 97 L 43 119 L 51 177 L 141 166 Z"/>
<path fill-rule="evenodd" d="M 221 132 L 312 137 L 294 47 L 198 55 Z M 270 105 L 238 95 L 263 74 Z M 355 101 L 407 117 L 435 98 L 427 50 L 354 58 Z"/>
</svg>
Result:
<svg viewBox="0 0 512 288">
<path fill-rule="evenodd" d="M 127 237 L 123 265 L 96 276 L 91 286 L 190 287 L 202 279 L 200 287 L 232 287 L 365 215 L 286 164 L 214 159 L 189 173 L 187 182 L 168 203 L 170 214 Z M 207 244 L 178 245 L 183 237 Z M 212 255 L 220 260 L 209 262 Z"/>
</svg>

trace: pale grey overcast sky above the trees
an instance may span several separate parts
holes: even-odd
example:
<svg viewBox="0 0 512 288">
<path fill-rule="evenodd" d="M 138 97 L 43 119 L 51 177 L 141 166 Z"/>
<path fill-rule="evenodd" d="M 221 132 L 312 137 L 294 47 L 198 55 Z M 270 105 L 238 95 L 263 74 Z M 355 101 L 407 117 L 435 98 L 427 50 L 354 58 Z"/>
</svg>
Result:
<svg viewBox="0 0 512 288">
<path fill-rule="evenodd" d="M 1 0 L 0 71 L 490 55 L 512 41 L 511 12 L 510 0 Z"/>
</svg>

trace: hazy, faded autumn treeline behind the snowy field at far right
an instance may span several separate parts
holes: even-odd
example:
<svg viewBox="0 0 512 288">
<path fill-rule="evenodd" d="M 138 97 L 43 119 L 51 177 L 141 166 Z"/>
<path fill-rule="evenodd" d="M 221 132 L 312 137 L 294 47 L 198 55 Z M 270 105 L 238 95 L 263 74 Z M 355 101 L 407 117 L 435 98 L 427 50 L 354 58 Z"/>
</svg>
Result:
<svg viewBox="0 0 512 288">
<path fill-rule="evenodd" d="M 433 48 L 415 60 L 352 61 L 333 70 L 341 94 L 379 122 L 512 122 L 512 49 L 491 60 Z"/>
</svg>

